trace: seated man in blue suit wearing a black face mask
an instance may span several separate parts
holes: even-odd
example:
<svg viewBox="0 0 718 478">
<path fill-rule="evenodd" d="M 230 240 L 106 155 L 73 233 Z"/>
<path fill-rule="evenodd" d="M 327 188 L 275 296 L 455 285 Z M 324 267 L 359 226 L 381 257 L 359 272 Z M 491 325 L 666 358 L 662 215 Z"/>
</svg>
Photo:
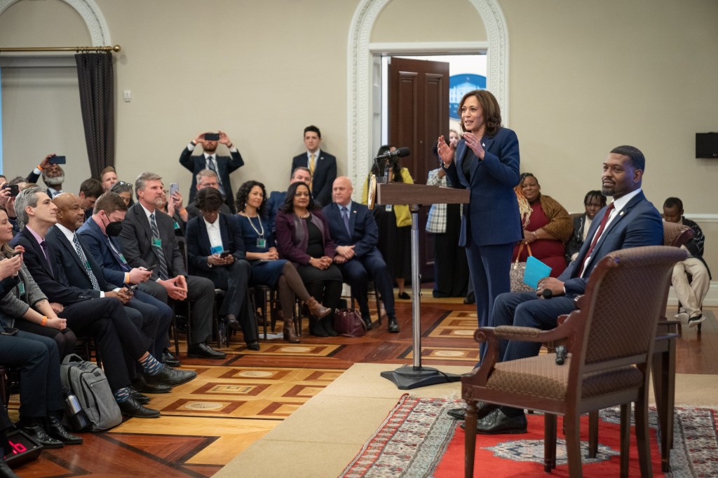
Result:
<svg viewBox="0 0 718 478">
<path fill-rule="evenodd" d="M 95 258 L 102 269 L 106 282 L 126 287 L 139 285 L 134 291 L 133 299 L 157 308 L 162 317 L 160 323 L 169 324 L 172 322 L 172 308 L 165 302 L 152 297 L 149 293 L 151 291 L 146 289 L 145 282 L 152 272 L 143 267 L 129 267 L 122 255 L 122 246 L 118 236 L 122 231 L 122 221 L 125 219 L 126 213 L 127 205 L 121 196 L 113 192 L 104 193 L 95 202 L 93 215 L 76 232 L 85 250 Z M 153 355 L 158 360 L 162 357 L 160 360 L 162 363 L 172 367 L 180 366 L 180 360 L 177 360 L 167 349 L 169 345 L 167 329 L 160 326 L 158 330 L 162 335 L 158 336 L 157 348 Z M 161 345 L 162 348 L 160 348 Z M 155 353 L 162 353 L 162 355 L 155 355 Z"/>
</svg>

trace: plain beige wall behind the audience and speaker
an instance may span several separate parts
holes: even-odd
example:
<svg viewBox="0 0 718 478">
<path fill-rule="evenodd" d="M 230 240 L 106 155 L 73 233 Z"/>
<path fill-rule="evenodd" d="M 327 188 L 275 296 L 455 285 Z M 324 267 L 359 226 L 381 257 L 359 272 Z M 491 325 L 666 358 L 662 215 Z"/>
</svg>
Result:
<svg viewBox="0 0 718 478">
<path fill-rule="evenodd" d="M 233 175 L 235 188 L 248 178 L 283 188 L 309 123 L 320 126 L 325 149 L 346 171 L 348 32 L 359 0 L 96 1 L 122 46 L 115 64 L 121 178 L 149 168 L 186 192 L 190 173 L 178 167 L 180 151 L 197 133 L 223 128 L 246 161 Z M 499 4 L 522 170 L 579 211 L 585 191 L 600 187 L 608 150 L 638 146 L 654 204 L 679 196 L 689 214 L 709 216 L 701 225 L 718 271 L 718 226 L 710 216 L 718 212 L 718 161 L 693 158 L 694 133 L 718 130 L 718 2 Z M 22 0 L 0 16 L 0 45 L 87 42 L 78 21 L 59 0 Z M 370 38 L 485 42 L 487 35 L 469 0 L 393 0 Z M 132 91 L 132 102 L 122 101 L 123 90 Z M 4 121 L 11 129 L 6 112 Z M 52 148 L 39 135 L 27 145 L 27 164 L 6 164 L 6 171 L 26 173 Z M 72 181 L 79 186 L 82 178 Z"/>
</svg>

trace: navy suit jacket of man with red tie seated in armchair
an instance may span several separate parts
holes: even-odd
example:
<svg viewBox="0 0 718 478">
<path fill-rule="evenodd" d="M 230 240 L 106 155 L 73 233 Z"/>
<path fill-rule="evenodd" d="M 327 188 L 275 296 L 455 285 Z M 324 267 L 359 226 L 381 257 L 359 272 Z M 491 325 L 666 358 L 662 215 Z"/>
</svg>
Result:
<svg viewBox="0 0 718 478">
<path fill-rule="evenodd" d="M 618 215 L 608 224 L 593 249 L 592 259 L 586 265 L 584 277 L 577 277 L 581 265 L 586 259 L 593 236 L 601 224 L 607 207 L 604 207 L 594 217 L 579 255 L 559 275 L 558 279 L 564 282 L 567 295 L 580 295 L 586 290 L 589 274 L 598 264 L 599 260 L 610 252 L 618 249 L 641 246 L 663 245 L 663 221 L 651 201 L 645 199 L 643 191 L 633 197 Z"/>
</svg>

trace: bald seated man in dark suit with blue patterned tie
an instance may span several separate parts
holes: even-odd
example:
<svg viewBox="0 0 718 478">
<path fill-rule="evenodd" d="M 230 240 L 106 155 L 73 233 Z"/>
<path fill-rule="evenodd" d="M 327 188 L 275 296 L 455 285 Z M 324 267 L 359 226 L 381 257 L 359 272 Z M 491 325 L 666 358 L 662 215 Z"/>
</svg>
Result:
<svg viewBox="0 0 718 478">
<path fill-rule="evenodd" d="M 80 198 L 73 193 L 62 193 L 52 202 L 57 206 L 57 224 L 47 230 L 45 241 L 55 250 L 67 283 L 92 297 L 116 297 L 126 307 L 125 312 L 132 323 L 152 339 L 149 352 L 157 360 L 162 360 L 167 330 L 172 323 L 172 309 L 140 291 L 136 291 L 137 295 L 146 296 L 144 298 L 149 302 L 138 300 L 123 284 L 106 282 L 94 254 L 85 245 L 84 239 L 75 234 L 85 218 Z"/>
</svg>

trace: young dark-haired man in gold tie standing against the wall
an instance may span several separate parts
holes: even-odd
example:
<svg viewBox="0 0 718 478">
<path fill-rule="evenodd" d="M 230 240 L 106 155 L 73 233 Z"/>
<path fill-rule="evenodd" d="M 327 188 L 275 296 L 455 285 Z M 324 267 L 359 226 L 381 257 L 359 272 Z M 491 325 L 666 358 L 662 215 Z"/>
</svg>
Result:
<svg viewBox="0 0 718 478">
<path fill-rule="evenodd" d="M 314 125 L 304 128 L 304 145 L 307 152 L 292 158 L 292 171 L 304 166 L 312 174 L 312 198 L 320 206 L 332 201 L 332 184 L 337 178 L 337 158 L 320 150 L 322 132 Z"/>
</svg>

